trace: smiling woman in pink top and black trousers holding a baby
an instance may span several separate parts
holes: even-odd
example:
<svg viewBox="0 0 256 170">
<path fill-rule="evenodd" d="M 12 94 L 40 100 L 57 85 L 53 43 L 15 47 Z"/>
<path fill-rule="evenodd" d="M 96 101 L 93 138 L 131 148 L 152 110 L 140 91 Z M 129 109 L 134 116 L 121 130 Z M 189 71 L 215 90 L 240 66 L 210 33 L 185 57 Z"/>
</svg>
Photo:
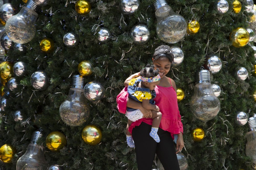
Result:
<svg viewBox="0 0 256 170">
<path fill-rule="evenodd" d="M 155 87 L 156 98 L 154 99 L 162 113 L 157 133 L 161 142 L 155 142 L 147 133 L 150 132 L 152 125 L 152 119 L 149 118 L 152 111 L 145 109 L 142 103 L 126 97 L 126 89 L 122 91 L 122 98 L 120 100 L 117 98 L 118 109 L 122 113 L 125 112 L 125 103 L 127 103 L 127 107 L 140 109 L 143 113 L 143 118 L 132 122 L 129 127 L 129 132 L 132 133 L 135 143 L 138 169 L 152 169 L 155 154 L 157 154 L 164 169 L 180 169 L 176 153 L 184 147 L 183 124 L 178 110 L 176 84 L 172 79 L 166 77 L 173 58 L 171 48 L 167 45 L 157 47 L 152 58 L 155 69 L 159 69 L 161 78 L 160 83 Z M 173 142 L 174 135 L 178 136 L 176 148 Z"/>
</svg>

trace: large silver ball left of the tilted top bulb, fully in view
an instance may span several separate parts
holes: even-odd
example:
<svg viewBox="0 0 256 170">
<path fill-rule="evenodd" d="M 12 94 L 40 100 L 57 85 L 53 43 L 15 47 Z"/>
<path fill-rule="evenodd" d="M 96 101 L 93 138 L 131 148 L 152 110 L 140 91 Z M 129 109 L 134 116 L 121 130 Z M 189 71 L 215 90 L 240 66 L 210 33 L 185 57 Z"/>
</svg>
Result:
<svg viewBox="0 0 256 170">
<path fill-rule="evenodd" d="M 143 45 L 150 40 L 150 31 L 144 24 L 134 25 L 130 31 L 130 35 L 133 38 L 134 44 Z"/>
</svg>

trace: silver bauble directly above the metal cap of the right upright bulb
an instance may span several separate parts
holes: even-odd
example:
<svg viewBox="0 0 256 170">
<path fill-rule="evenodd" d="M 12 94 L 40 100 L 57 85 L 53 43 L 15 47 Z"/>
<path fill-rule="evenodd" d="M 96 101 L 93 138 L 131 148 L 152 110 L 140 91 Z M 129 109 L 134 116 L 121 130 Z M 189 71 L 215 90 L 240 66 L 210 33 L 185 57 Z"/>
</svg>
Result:
<svg viewBox="0 0 256 170">
<path fill-rule="evenodd" d="M 206 56 L 206 61 L 204 65 L 206 70 L 209 70 L 211 74 L 217 74 L 222 67 L 221 60 L 215 54 Z"/>
</svg>

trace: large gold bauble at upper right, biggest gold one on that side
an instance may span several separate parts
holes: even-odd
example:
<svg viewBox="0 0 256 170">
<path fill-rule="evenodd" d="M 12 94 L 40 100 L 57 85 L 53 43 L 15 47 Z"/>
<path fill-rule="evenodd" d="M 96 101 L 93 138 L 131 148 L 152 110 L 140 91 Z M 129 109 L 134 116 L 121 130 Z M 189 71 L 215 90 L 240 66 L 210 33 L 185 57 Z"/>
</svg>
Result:
<svg viewBox="0 0 256 170">
<path fill-rule="evenodd" d="M 244 47 L 249 42 L 249 32 L 241 27 L 233 29 L 229 34 L 229 40 L 232 41 L 234 47 Z"/>
</svg>

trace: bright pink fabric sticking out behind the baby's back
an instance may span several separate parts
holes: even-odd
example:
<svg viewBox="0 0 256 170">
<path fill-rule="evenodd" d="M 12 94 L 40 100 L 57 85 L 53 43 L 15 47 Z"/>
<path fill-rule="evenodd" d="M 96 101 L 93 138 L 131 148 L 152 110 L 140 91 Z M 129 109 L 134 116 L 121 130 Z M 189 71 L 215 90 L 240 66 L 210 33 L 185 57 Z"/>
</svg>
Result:
<svg viewBox="0 0 256 170">
<path fill-rule="evenodd" d="M 123 88 L 123 90 L 116 96 L 117 109 L 120 113 L 125 114 L 126 112 L 128 96 L 127 87 Z"/>
</svg>

